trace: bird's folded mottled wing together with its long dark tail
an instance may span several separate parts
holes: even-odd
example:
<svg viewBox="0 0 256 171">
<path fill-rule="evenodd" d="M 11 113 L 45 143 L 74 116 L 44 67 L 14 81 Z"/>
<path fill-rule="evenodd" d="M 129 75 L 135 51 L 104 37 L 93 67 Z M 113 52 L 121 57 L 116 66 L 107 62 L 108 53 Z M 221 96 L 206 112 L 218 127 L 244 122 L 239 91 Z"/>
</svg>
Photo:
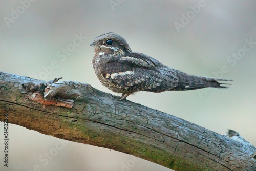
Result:
<svg viewBox="0 0 256 171">
<path fill-rule="evenodd" d="M 205 87 L 226 88 L 218 82 L 226 80 L 189 75 L 164 66 L 156 59 L 140 53 L 120 56 L 117 60 L 106 63 L 103 72 L 103 76 L 116 86 L 121 85 L 133 91 L 162 92 Z"/>
</svg>

